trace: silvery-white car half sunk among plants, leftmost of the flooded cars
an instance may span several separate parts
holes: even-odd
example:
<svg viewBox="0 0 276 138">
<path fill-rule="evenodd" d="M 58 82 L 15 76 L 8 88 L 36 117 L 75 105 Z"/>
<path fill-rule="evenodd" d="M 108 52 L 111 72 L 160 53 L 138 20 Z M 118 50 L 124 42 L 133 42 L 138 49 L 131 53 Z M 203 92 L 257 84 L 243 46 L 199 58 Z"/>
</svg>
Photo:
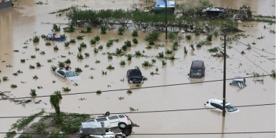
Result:
<svg viewBox="0 0 276 138">
<path fill-rule="evenodd" d="M 64 68 L 60 68 L 59 70 L 55 70 L 55 75 L 67 79 L 68 81 L 80 81 L 81 77 L 74 70 L 66 70 Z"/>
</svg>

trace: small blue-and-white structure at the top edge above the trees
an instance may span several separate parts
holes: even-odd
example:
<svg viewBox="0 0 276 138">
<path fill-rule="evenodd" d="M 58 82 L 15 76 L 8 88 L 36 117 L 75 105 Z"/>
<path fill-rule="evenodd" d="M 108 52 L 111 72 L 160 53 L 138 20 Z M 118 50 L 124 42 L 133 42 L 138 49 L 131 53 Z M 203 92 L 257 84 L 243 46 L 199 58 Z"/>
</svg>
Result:
<svg viewBox="0 0 276 138">
<path fill-rule="evenodd" d="M 164 12 L 166 10 L 166 2 L 168 10 L 175 11 L 175 1 L 158 0 L 155 3 L 155 12 Z"/>
</svg>

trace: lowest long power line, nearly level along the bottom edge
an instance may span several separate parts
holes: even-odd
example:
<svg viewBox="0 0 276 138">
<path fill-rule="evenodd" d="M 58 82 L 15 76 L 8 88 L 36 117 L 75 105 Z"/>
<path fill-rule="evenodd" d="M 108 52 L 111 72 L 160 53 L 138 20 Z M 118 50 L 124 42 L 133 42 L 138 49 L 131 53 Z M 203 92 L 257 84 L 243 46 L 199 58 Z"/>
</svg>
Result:
<svg viewBox="0 0 276 138">
<path fill-rule="evenodd" d="M 10 132 L 0 132 L 0 134 L 7 134 Z M 230 135 L 230 134 L 261 134 L 261 133 L 275 133 L 275 131 L 255 131 L 255 132 L 194 132 L 194 133 L 132 133 L 131 135 Z M 35 133 L 35 132 L 15 132 L 14 135 L 77 135 L 75 133 Z M 83 135 L 99 135 L 99 134 L 83 134 Z M 108 134 L 106 134 L 108 135 Z"/>
</svg>

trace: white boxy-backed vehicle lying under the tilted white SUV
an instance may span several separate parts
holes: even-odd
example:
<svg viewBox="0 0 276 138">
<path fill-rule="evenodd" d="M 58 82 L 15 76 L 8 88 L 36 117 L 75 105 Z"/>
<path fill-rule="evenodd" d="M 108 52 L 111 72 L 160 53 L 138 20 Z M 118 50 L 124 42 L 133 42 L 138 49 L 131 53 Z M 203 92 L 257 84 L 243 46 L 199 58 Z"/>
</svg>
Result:
<svg viewBox="0 0 276 138">
<path fill-rule="evenodd" d="M 83 122 L 79 130 L 79 138 L 125 138 L 121 132 L 112 132 L 107 128 L 103 128 L 101 122 Z"/>
</svg>

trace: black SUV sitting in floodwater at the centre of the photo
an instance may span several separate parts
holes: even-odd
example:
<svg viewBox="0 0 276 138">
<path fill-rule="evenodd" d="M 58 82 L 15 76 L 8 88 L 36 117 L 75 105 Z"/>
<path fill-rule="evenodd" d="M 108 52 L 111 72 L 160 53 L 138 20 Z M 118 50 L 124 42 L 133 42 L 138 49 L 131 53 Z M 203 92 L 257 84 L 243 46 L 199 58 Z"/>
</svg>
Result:
<svg viewBox="0 0 276 138">
<path fill-rule="evenodd" d="M 126 72 L 128 83 L 143 83 L 143 76 L 140 70 L 130 69 Z"/>
</svg>

